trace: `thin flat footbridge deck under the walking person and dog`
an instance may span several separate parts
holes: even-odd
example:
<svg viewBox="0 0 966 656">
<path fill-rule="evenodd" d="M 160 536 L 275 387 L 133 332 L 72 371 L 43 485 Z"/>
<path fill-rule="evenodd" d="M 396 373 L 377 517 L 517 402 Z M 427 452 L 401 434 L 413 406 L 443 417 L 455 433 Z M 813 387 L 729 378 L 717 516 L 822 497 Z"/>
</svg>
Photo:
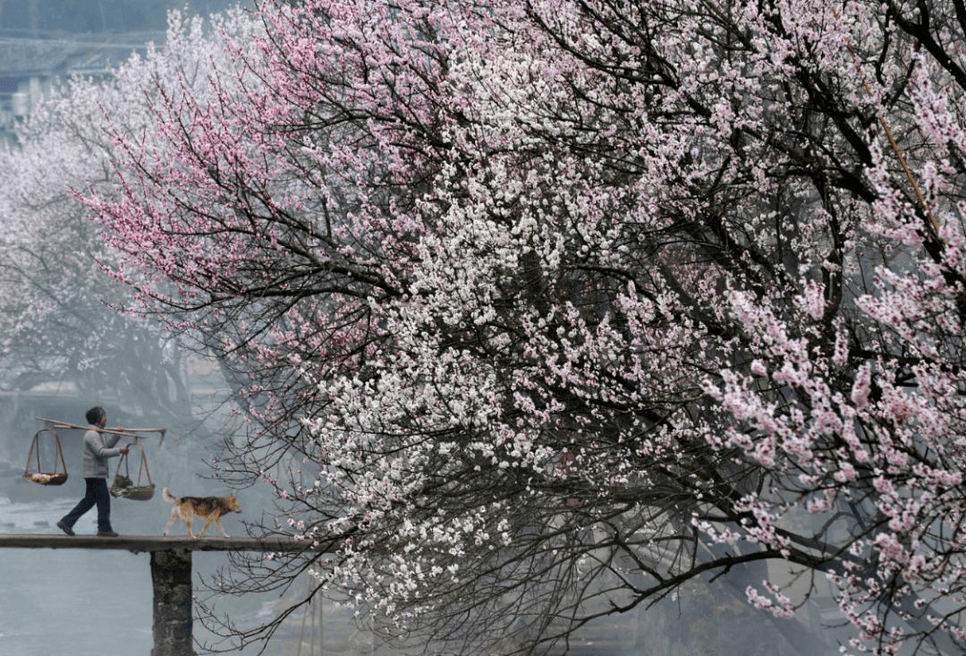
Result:
<svg viewBox="0 0 966 656">
<path fill-rule="evenodd" d="M 217 535 L 217 533 L 216 533 Z M 331 547 L 331 545 L 327 545 Z M 304 552 L 313 550 L 312 543 L 285 537 L 216 537 L 206 535 L 16 535 L 0 533 L 0 548 L 12 549 L 115 549 L 141 554 L 145 552 Z M 320 549 L 319 548 L 316 549 Z"/>
</svg>

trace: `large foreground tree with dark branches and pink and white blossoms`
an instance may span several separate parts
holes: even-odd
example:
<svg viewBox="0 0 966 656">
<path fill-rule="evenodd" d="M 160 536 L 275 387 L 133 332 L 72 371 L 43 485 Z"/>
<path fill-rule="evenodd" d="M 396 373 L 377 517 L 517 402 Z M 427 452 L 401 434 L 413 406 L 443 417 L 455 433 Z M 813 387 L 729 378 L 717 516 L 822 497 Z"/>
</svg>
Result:
<svg viewBox="0 0 966 656">
<path fill-rule="evenodd" d="M 221 472 L 338 550 L 221 591 L 311 569 L 388 637 L 532 653 L 708 581 L 806 654 L 829 580 L 847 649 L 963 652 L 959 4 L 258 15 L 87 195 L 247 380 Z"/>
</svg>

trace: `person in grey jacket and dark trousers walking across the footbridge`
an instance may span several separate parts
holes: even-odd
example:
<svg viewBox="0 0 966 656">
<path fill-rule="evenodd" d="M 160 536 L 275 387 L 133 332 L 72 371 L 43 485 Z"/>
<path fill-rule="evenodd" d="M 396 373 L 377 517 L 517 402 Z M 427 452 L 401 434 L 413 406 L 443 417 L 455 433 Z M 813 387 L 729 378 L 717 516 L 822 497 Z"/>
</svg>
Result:
<svg viewBox="0 0 966 656">
<path fill-rule="evenodd" d="M 98 535 L 117 537 L 118 534 L 111 528 L 111 497 L 107 492 L 107 459 L 127 453 L 128 449 L 114 448 L 121 439 L 120 435 L 105 436 L 99 433 L 98 429 L 103 428 L 107 423 L 107 413 L 103 408 L 95 406 L 87 411 L 87 422 L 90 424 L 89 430 L 84 434 L 84 482 L 87 485 L 87 492 L 84 499 L 80 499 L 73 510 L 57 523 L 57 528 L 68 535 L 73 535 L 73 525 L 84 513 L 97 505 Z M 122 431 L 124 428 L 118 426 L 115 430 Z"/>
</svg>

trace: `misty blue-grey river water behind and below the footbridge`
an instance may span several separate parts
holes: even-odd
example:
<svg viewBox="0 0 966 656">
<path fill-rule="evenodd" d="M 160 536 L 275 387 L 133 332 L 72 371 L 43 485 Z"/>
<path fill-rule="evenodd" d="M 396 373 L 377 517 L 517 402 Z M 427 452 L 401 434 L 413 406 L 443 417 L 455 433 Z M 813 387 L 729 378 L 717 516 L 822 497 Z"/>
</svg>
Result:
<svg viewBox="0 0 966 656">
<path fill-rule="evenodd" d="M 0 397 L 3 395 L 0 394 Z M 9 399 L 8 399 L 9 401 Z M 18 410 L 0 403 L 0 421 L 9 427 L 0 440 L 0 534 L 60 535 L 57 521 L 83 496 L 83 479 L 77 471 L 81 454 L 81 433 L 62 436 L 69 471 L 67 484 L 47 487 L 22 479 L 30 437 L 39 428 L 34 418 L 64 413 L 60 420 L 82 414 L 80 400 L 58 396 L 54 402 L 24 404 Z M 69 402 L 70 401 L 70 402 Z M 71 409 L 72 406 L 76 408 Z M 144 425 L 120 411 L 110 416 Z M 270 491 L 262 486 L 233 491 L 206 478 L 205 461 L 212 457 L 212 445 L 190 435 L 170 435 L 163 448 L 148 443 L 156 494 L 147 501 L 111 499 L 113 528 L 127 535 L 160 535 L 171 514 L 171 504 L 161 499 L 160 489 L 168 486 L 176 496 L 225 495 L 235 492 L 242 513 L 222 521 L 231 535 L 245 534 L 244 521 L 270 517 Z M 44 462 L 52 454 L 44 454 Z M 113 459 L 110 473 L 117 468 Z M 263 517 L 264 514 L 264 517 Z M 97 510 L 92 509 L 74 526 L 80 534 L 97 532 Z M 217 529 L 210 528 L 219 539 Z M 185 525 L 175 524 L 171 534 L 184 535 Z M 109 538 L 104 538 L 109 539 Z M 149 656 L 153 646 L 153 587 L 150 556 L 120 550 L 0 549 L 0 656 L 61 653 L 73 656 Z M 194 552 L 194 585 L 200 594 L 203 579 L 229 564 L 220 552 Z M 275 613 L 293 604 L 307 582 L 297 582 L 284 595 L 278 593 L 224 597 L 220 611 L 243 627 L 269 621 Z M 633 613 L 605 617 L 584 627 L 571 642 L 573 656 L 826 656 L 837 652 L 835 641 L 821 626 L 825 617 L 810 605 L 807 629 L 824 635 L 829 649 L 801 654 L 782 640 L 764 613 L 754 612 L 743 594 L 727 585 L 682 586 L 678 593 L 652 608 L 641 604 Z M 733 586 L 731 586 L 733 587 Z M 318 605 L 315 605 L 318 609 Z M 198 607 L 195 608 L 198 611 Z M 824 612 L 823 612 L 824 613 Z M 306 616 L 294 613 L 272 641 L 267 654 L 280 656 L 390 656 L 400 652 L 373 650 L 369 634 L 352 621 L 353 612 L 327 602 L 317 621 L 316 611 Z M 833 613 L 834 614 L 834 613 Z M 311 621 L 305 621 L 311 618 Z M 830 615 L 829 619 L 835 619 Z M 324 631 L 320 626 L 324 621 Z M 202 623 L 195 620 L 194 637 L 212 642 Z M 319 648 L 325 635 L 325 650 Z M 299 644 L 301 648 L 299 650 Z M 257 652 L 257 645 L 243 652 Z"/>
</svg>

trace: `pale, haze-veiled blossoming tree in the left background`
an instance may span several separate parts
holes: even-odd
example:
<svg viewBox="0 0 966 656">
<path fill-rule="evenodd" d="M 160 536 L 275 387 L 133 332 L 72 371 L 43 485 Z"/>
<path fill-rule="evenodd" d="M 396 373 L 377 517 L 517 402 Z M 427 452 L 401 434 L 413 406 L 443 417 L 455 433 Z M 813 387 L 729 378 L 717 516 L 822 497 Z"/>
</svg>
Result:
<svg viewBox="0 0 966 656">
<path fill-rule="evenodd" d="M 116 311 L 128 304 L 129 288 L 104 268 L 119 260 L 74 194 L 116 184 L 108 126 L 144 130 L 152 86 L 167 79 L 204 89 L 219 54 L 200 18 L 172 14 L 163 48 L 109 79 L 71 80 L 0 153 L 4 385 L 70 382 L 87 394 L 116 395 L 166 425 L 190 414 L 186 352 L 156 322 Z"/>
</svg>

